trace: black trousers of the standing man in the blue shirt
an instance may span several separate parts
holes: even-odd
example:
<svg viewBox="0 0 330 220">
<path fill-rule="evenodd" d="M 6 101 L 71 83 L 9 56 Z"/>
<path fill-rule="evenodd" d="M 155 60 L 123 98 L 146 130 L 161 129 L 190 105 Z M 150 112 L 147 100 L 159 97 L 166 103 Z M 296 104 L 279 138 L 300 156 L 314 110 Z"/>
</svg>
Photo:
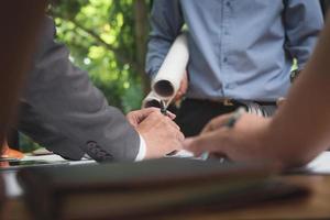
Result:
<svg viewBox="0 0 330 220">
<path fill-rule="evenodd" d="M 180 108 L 176 111 L 175 122 L 180 127 L 185 136 L 195 136 L 201 132 L 204 127 L 213 118 L 230 113 L 240 107 L 246 108 L 245 105 L 233 101 L 232 106 L 223 102 L 215 102 L 198 99 L 185 99 Z M 275 112 L 275 102 L 256 102 L 262 107 L 266 116 Z"/>
</svg>

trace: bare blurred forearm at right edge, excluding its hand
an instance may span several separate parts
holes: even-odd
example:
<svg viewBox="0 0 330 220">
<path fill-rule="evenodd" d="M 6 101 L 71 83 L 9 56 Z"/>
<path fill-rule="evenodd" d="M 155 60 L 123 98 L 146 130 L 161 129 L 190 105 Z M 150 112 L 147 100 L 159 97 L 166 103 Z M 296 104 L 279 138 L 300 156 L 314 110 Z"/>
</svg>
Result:
<svg viewBox="0 0 330 220">
<path fill-rule="evenodd" d="M 305 164 L 330 144 L 330 25 L 271 122 L 267 151 L 288 166 Z"/>
</svg>

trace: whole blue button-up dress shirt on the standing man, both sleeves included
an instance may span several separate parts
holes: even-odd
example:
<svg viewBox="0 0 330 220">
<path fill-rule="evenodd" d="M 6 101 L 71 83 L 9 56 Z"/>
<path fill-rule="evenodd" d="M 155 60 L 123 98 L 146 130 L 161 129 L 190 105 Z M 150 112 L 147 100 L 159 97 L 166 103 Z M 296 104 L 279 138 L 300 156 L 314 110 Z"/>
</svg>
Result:
<svg viewBox="0 0 330 220">
<path fill-rule="evenodd" d="M 187 97 L 274 101 L 287 94 L 293 59 L 301 69 L 310 56 L 323 16 L 318 0 L 155 0 L 151 77 L 185 23 Z"/>
</svg>

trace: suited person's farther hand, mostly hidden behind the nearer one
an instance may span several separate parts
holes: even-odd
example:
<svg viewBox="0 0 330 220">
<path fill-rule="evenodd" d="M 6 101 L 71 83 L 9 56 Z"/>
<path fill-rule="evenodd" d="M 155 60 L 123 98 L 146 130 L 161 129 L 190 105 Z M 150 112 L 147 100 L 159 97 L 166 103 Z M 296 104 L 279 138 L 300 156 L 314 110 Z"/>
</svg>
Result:
<svg viewBox="0 0 330 220">
<path fill-rule="evenodd" d="M 130 124 L 134 128 L 136 128 L 144 119 L 146 119 L 150 114 L 153 112 L 161 112 L 161 109 L 158 108 L 145 108 L 136 111 L 131 111 L 128 113 L 127 119 L 130 122 Z M 172 120 L 175 119 L 175 114 L 167 111 L 167 117 L 169 117 Z"/>
</svg>

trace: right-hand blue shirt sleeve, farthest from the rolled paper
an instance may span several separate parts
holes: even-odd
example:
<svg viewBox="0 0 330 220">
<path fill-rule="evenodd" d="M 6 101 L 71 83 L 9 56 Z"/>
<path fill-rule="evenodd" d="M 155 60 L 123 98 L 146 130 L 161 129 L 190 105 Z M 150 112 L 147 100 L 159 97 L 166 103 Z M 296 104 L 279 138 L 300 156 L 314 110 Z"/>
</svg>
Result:
<svg viewBox="0 0 330 220">
<path fill-rule="evenodd" d="M 323 15 L 319 1 L 287 0 L 285 2 L 284 25 L 286 48 L 297 59 L 302 69 L 316 45 L 323 26 Z"/>
</svg>

